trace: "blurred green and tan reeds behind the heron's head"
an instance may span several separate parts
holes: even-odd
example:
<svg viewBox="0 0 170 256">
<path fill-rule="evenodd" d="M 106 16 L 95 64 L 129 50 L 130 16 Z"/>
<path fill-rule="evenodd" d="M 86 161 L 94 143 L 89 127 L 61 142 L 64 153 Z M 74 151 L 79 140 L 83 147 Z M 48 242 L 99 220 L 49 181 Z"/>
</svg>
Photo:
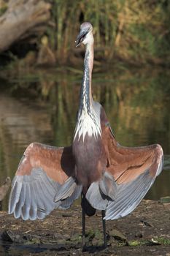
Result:
<svg viewBox="0 0 170 256">
<path fill-rule="evenodd" d="M 52 1 L 53 26 L 47 34 L 57 61 L 72 56 L 85 20 L 93 24 L 96 59 L 170 63 L 169 0 Z"/>
</svg>

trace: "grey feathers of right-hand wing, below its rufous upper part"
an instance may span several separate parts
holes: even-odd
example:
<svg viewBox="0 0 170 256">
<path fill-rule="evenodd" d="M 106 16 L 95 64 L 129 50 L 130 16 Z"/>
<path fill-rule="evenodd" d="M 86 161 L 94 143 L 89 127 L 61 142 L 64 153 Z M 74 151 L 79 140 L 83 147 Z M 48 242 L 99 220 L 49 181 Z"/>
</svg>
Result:
<svg viewBox="0 0 170 256">
<path fill-rule="evenodd" d="M 127 184 L 117 185 L 114 178 L 111 179 L 107 173 L 104 176 L 102 182 L 93 182 L 85 195 L 93 208 L 106 210 L 104 219 L 118 219 L 130 214 L 155 181 L 155 177 L 150 176 L 149 170 Z M 107 178 L 109 178 L 109 183 L 106 182 Z M 107 188 L 111 181 L 113 190 Z M 115 192 L 115 195 L 113 192 Z"/>
</svg>

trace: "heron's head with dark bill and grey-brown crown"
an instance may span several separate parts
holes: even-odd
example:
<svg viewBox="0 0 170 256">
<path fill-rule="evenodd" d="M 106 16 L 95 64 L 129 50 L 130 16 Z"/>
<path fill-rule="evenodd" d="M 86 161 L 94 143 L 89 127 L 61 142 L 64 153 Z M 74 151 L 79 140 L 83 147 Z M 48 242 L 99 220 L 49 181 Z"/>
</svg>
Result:
<svg viewBox="0 0 170 256">
<path fill-rule="evenodd" d="M 80 43 L 82 42 L 83 45 L 87 45 L 90 42 L 93 42 L 93 26 L 91 25 L 90 22 L 84 22 L 82 23 L 82 25 L 80 26 L 80 33 L 77 36 L 76 39 L 76 47 L 78 45 L 80 45 Z"/>
</svg>

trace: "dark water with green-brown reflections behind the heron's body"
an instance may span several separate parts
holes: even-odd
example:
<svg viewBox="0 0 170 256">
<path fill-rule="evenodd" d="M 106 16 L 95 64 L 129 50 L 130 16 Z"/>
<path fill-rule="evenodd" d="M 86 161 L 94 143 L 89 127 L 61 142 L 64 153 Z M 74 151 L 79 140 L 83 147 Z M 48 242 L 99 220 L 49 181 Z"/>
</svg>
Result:
<svg viewBox="0 0 170 256">
<path fill-rule="evenodd" d="M 72 143 L 82 72 L 36 70 L 0 80 L 0 184 L 15 175 L 29 143 Z M 104 106 L 123 146 L 159 143 L 165 170 L 147 198 L 170 195 L 170 76 L 168 70 L 120 69 L 93 74 L 93 97 Z M 8 197 L 3 202 L 7 210 Z"/>
</svg>

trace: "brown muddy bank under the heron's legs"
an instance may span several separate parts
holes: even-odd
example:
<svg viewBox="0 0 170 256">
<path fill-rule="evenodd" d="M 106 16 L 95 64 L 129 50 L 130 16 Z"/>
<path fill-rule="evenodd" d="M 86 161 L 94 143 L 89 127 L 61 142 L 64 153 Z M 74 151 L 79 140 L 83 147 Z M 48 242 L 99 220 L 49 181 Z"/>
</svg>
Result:
<svg viewBox="0 0 170 256">
<path fill-rule="evenodd" d="M 80 206 L 34 222 L 1 211 L 0 255 L 170 256 L 170 203 L 143 200 L 128 217 L 107 221 L 107 249 L 101 247 L 101 213 L 86 217 L 88 252 L 83 253 L 81 217 Z"/>
</svg>

